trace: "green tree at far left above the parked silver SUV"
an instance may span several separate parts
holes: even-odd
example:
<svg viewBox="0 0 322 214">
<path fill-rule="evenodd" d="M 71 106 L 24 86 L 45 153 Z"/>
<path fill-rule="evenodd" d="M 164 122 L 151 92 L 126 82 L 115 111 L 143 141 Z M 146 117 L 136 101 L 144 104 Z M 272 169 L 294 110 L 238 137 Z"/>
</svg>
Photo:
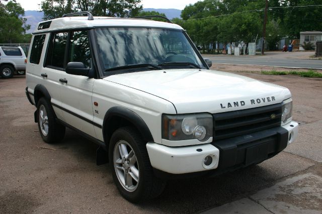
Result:
<svg viewBox="0 0 322 214">
<path fill-rule="evenodd" d="M 23 18 L 24 9 L 13 0 L 6 5 L 0 3 L 0 12 L 0 43 L 21 43 L 30 29 L 27 19 Z"/>
</svg>

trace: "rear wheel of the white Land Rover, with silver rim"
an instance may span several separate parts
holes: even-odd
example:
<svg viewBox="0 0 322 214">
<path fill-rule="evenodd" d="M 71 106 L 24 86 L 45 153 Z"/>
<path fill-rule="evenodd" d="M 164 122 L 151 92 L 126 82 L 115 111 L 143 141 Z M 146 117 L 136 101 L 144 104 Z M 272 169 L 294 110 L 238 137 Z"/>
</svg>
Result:
<svg viewBox="0 0 322 214">
<path fill-rule="evenodd" d="M 55 143 L 65 136 L 65 126 L 56 122 L 54 110 L 49 102 L 41 97 L 37 104 L 38 129 L 46 143 Z"/>
</svg>

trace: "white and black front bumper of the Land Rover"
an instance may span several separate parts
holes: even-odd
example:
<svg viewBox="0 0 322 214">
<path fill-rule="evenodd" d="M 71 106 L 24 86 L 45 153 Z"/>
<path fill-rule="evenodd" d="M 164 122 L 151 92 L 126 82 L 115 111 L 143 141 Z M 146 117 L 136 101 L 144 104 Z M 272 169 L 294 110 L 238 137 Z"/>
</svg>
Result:
<svg viewBox="0 0 322 214">
<path fill-rule="evenodd" d="M 156 175 L 176 178 L 201 174 L 216 175 L 269 159 L 297 138 L 298 123 L 292 121 L 284 126 L 224 139 L 209 144 L 168 147 L 147 143 L 146 148 Z M 212 155 L 214 164 L 205 168 L 203 160 Z M 167 176 L 165 176 L 167 175 Z M 172 176 L 173 175 L 173 176 Z"/>
</svg>

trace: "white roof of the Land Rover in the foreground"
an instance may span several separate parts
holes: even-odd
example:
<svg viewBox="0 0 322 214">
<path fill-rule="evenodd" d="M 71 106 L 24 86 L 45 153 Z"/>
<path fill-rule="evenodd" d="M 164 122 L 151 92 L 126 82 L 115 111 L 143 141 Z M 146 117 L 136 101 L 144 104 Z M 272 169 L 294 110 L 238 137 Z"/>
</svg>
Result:
<svg viewBox="0 0 322 214">
<path fill-rule="evenodd" d="M 40 24 L 51 22 L 49 28 L 38 30 Z M 94 20 L 88 20 L 88 17 L 63 17 L 45 22 L 40 22 L 34 33 L 47 31 L 56 31 L 74 28 L 95 28 L 95 27 L 152 27 L 152 28 L 168 28 L 183 30 L 182 27 L 172 23 L 151 21 L 145 19 L 131 18 L 114 18 L 114 17 L 94 17 Z"/>
</svg>

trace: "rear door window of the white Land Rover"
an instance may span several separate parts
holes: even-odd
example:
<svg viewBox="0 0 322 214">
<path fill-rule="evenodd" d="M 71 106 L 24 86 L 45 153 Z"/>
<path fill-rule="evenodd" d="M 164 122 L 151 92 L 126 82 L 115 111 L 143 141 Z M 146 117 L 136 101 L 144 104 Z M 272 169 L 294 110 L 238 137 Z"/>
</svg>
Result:
<svg viewBox="0 0 322 214">
<path fill-rule="evenodd" d="M 67 35 L 67 32 L 51 34 L 45 66 L 64 68 Z"/>
</svg>

